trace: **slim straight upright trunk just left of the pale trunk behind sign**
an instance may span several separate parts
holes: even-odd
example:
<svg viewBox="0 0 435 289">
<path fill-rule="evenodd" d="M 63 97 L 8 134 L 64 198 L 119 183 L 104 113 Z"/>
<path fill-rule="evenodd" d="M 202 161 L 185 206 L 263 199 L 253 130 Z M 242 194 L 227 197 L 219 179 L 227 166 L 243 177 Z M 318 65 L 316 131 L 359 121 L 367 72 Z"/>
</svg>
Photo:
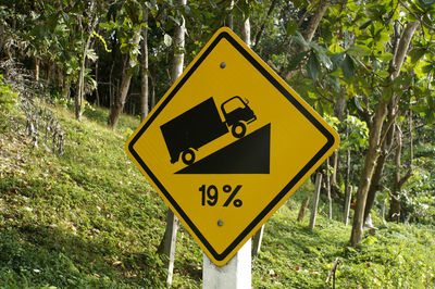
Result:
<svg viewBox="0 0 435 289">
<path fill-rule="evenodd" d="M 145 11 L 145 23 L 148 23 L 148 9 L 144 5 Z M 140 62 L 140 121 L 148 115 L 148 99 L 149 99 L 149 86 L 148 86 L 148 28 L 142 28 L 142 51 Z"/>
</svg>

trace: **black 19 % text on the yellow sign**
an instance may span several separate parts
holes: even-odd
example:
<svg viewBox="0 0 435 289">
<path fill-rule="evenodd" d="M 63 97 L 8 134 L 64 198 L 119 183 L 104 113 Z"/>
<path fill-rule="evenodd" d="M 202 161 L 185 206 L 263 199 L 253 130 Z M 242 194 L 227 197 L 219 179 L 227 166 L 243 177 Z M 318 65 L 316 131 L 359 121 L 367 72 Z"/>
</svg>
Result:
<svg viewBox="0 0 435 289">
<path fill-rule="evenodd" d="M 229 197 L 225 200 L 223 206 L 228 206 L 232 202 L 233 205 L 236 208 L 239 208 L 244 204 L 244 202 L 240 199 L 235 199 L 234 197 L 236 197 L 237 192 L 241 189 L 241 185 L 237 185 L 234 190 L 232 188 L 232 186 L 229 185 L 224 185 L 222 187 L 222 190 L 225 193 L 229 193 Z M 199 191 L 201 192 L 201 205 L 210 205 L 210 206 L 214 206 L 217 204 L 217 200 L 219 200 L 219 190 L 217 187 L 214 185 L 210 185 L 210 186 L 206 186 L 202 185 L 201 187 L 199 187 Z"/>
</svg>

